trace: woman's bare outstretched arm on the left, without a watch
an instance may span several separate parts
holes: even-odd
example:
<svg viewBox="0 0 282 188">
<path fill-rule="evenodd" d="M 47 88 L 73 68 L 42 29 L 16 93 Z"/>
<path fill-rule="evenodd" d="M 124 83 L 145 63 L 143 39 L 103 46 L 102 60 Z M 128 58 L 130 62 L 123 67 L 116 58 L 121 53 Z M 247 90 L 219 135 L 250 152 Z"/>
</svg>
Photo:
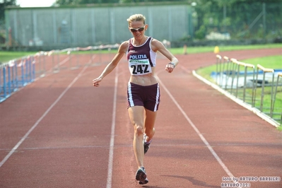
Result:
<svg viewBox="0 0 282 188">
<path fill-rule="evenodd" d="M 102 79 L 105 78 L 105 76 L 107 76 L 107 74 L 110 74 L 110 72 L 112 72 L 112 70 L 114 70 L 114 68 L 119 63 L 120 59 L 122 59 L 124 54 L 127 52 L 127 48 L 128 48 L 128 41 L 122 42 L 122 45 L 119 46 L 117 54 L 114 56 L 114 58 L 112 59 L 110 64 L 107 64 L 104 71 L 102 71 L 102 74 L 100 74 L 100 76 L 98 78 L 95 78 L 93 80 L 93 82 L 92 82 L 93 86 L 95 86 L 95 87 L 100 86 L 99 82 L 102 81 Z"/>
</svg>

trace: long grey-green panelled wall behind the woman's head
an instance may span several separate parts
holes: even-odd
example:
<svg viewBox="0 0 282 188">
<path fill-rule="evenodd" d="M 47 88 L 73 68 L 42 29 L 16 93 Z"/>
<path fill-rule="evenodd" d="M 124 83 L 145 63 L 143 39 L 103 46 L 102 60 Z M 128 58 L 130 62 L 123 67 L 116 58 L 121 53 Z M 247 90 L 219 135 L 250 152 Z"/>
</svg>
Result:
<svg viewBox="0 0 282 188">
<path fill-rule="evenodd" d="M 12 46 L 42 46 L 48 50 L 115 44 L 128 40 L 127 18 L 146 16 L 146 35 L 156 39 L 179 40 L 191 35 L 191 8 L 187 4 L 155 6 L 52 7 L 6 9 L 6 36 Z M 161 15 L 161 16 L 160 16 Z M 8 41 L 8 40 L 7 40 Z"/>
</svg>

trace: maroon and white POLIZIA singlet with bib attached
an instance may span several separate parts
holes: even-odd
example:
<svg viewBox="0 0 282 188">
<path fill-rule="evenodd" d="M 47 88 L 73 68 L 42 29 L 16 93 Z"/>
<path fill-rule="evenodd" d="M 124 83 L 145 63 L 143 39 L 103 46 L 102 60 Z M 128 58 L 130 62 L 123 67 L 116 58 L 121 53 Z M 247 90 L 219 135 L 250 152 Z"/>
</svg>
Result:
<svg viewBox="0 0 282 188">
<path fill-rule="evenodd" d="M 127 61 L 129 61 L 129 71 L 131 75 L 144 75 L 152 72 L 155 66 L 156 52 L 151 49 L 152 37 L 148 37 L 141 46 L 134 46 L 129 39 L 129 49 L 127 50 Z"/>
</svg>

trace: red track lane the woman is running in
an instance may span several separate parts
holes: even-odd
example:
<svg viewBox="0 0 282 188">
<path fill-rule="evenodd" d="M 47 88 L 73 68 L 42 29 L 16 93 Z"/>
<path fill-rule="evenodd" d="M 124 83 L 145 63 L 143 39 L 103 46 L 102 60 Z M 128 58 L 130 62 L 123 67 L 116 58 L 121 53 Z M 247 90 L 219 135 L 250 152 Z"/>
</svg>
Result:
<svg viewBox="0 0 282 188">
<path fill-rule="evenodd" d="M 165 61 L 160 62 L 164 64 Z M 124 66 L 128 69 L 127 66 Z M 163 66 L 164 67 L 164 66 Z M 122 68 L 119 68 L 122 69 Z M 167 74 L 167 73 L 164 73 Z M 128 77 L 124 78 L 122 90 L 119 92 L 124 93 L 126 96 L 126 86 Z M 168 78 L 174 79 L 173 74 L 168 74 Z M 146 154 L 145 167 L 148 174 L 149 184 L 144 187 L 187 187 L 195 184 L 210 187 L 218 187 L 220 179 L 224 175 L 224 171 L 220 165 L 211 156 L 204 143 L 199 139 L 199 136 L 193 131 L 192 127 L 185 126 L 187 120 L 183 117 L 180 110 L 173 104 L 171 98 L 160 87 L 160 110 L 155 126 L 156 134 L 152 143 L 151 150 Z M 175 87 L 174 90 L 180 89 Z M 125 97 L 124 99 L 125 100 Z M 123 105 L 125 107 L 125 105 Z M 169 109 L 169 110 L 168 110 Z M 117 112 L 120 114 L 119 112 Z M 126 116 L 124 116 L 126 114 Z M 177 118 L 175 118 L 177 114 Z M 115 161 L 113 184 L 112 187 L 138 187 L 139 184 L 134 180 L 136 172 L 136 162 L 134 158 L 132 145 L 133 127 L 129 123 L 127 117 L 127 111 L 122 110 L 122 130 L 126 128 L 126 133 L 122 135 L 117 134 L 115 140 Z M 117 123 L 117 132 L 119 132 L 119 123 Z M 121 131 L 122 132 L 122 131 Z M 120 137 L 122 136 L 122 137 Z M 192 152 L 191 152 L 192 151 Z M 187 156 L 189 156 L 187 158 Z M 206 168 L 206 163 L 201 164 L 200 167 L 196 164 L 201 160 L 208 160 L 209 165 L 212 168 Z M 213 177 L 205 177 L 202 179 L 201 170 L 196 172 L 195 177 L 193 173 L 189 174 L 189 168 L 199 168 L 208 172 L 208 169 L 212 173 L 217 169 L 218 184 L 209 183 Z M 206 179 L 207 178 L 207 179 Z M 189 182 L 189 180 L 191 180 Z"/>
</svg>

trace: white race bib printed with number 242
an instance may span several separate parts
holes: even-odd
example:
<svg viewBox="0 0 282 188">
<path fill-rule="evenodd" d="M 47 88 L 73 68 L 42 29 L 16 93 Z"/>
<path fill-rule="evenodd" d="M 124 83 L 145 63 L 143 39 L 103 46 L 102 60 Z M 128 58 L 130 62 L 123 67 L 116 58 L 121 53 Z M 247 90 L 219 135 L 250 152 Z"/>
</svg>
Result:
<svg viewBox="0 0 282 188">
<path fill-rule="evenodd" d="M 129 59 L 129 71 L 131 75 L 143 75 L 152 72 L 149 59 Z"/>
</svg>

